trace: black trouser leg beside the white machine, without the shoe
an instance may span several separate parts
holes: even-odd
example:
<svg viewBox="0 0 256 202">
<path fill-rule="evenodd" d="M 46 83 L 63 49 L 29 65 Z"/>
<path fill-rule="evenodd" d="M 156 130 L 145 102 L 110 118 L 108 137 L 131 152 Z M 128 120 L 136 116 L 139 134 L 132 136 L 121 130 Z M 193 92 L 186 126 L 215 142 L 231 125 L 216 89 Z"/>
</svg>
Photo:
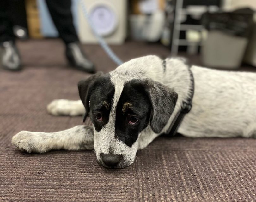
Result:
<svg viewBox="0 0 256 202">
<path fill-rule="evenodd" d="M 46 0 L 46 3 L 60 38 L 66 44 L 77 42 L 78 37 L 71 13 L 71 0 Z"/>
</svg>

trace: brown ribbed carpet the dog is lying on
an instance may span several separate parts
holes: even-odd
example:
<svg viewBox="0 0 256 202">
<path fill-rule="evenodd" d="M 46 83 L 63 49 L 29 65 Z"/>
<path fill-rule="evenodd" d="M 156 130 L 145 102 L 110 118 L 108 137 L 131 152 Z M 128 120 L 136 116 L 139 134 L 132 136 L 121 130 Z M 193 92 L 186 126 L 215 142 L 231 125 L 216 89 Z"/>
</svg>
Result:
<svg viewBox="0 0 256 202">
<path fill-rule="evenodd" d="M 256 140 L 159 137 L 137 153 L 137 162 L 113 170 L 92 151 L 27 154 L 11 137 L 21 130 L 53 132 L 82 117 L 53 117 L 53 99 L 78 99 L 77 82 L 88 74 L 66 65 L 58 40 L 19 42 L 24 71 L 0 70 L 0 201 L 256 201 Z M 124 60 L 166 57 L 158 44 L 113 47 Z M 115 65 L 98 46 L 85 46 L 98 70 Z M 195 59 L 195 60 L 198 60 Z M 198 60 L 199 61 L 199 60 Z"/>
</svg>

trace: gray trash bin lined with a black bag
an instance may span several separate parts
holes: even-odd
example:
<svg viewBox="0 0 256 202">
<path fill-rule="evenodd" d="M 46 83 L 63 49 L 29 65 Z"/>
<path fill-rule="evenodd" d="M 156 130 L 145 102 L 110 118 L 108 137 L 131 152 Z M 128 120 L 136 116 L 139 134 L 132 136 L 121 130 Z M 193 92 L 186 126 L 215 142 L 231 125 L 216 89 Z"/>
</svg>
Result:
<svg viewBox="0 0 256 202">
<path fill-rule="evenodd" d="M 206 13 L 202 24 L 208 30 L 202 46 L 205 66 L 236 69 L 241 66 L 253 22 L 251 9 Z"/>
</svg>

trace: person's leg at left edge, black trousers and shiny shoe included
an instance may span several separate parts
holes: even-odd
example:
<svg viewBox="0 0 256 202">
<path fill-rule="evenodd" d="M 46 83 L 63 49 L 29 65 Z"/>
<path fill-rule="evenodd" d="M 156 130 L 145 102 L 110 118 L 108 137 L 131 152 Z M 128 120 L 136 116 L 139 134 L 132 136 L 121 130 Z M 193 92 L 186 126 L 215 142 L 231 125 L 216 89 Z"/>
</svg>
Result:
<svg viewBox="0 0 256 202">
<path fill-rule="evenodd" d="M 7 70 L 21 70 L 21 60 L 15 46 L 9 8 L 9 1 L 0 0 L 0 65 Z"/>
</svg>

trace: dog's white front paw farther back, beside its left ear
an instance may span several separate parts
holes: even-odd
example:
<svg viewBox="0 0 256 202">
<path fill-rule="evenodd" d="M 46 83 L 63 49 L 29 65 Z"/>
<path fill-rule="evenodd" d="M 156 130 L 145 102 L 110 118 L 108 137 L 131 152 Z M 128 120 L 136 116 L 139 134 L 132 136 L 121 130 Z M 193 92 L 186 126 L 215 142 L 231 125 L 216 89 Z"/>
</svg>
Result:
<svg viewBox="0 0 256 202">
<path fill-rule="evenodd" d="M 48 104 L 47 111 L 51 115 L 55 116 L 78 116 L 85 113 L 85 109 L 81 100 L 76 101 L 65 99 L 53 100 L 50 104 Z"/>
</svg>

